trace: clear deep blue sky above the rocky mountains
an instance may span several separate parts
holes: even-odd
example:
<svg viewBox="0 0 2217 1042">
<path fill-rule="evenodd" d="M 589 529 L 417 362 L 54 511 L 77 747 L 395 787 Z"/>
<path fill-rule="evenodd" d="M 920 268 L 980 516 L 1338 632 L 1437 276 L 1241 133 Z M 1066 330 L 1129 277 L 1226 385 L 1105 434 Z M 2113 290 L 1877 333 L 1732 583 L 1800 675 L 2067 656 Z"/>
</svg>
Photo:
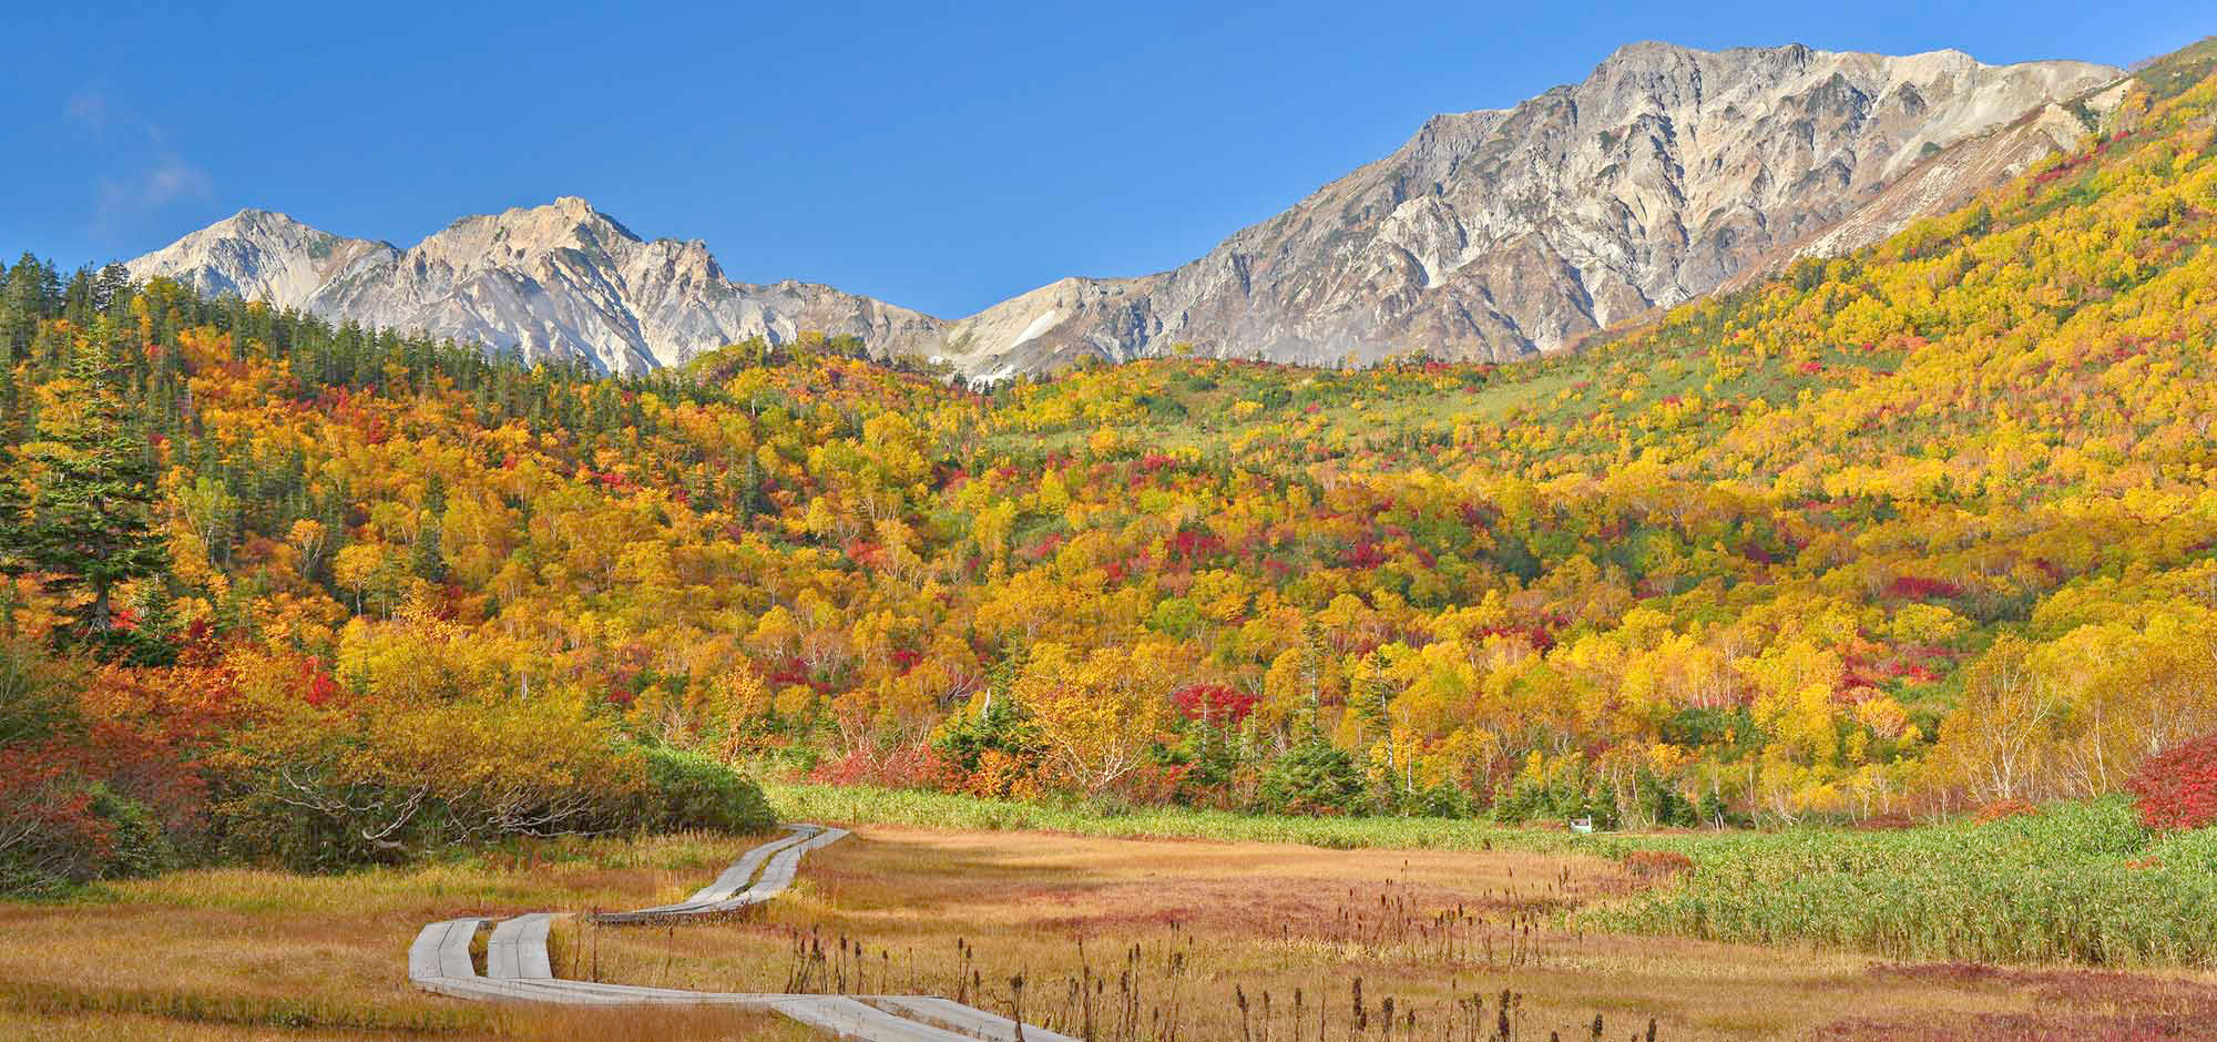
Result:
<svg viewBox="0 0 2217 1042">
<path fill-rule="evenodd" d="M 938 315 L 1179 264 L 1629 40 L 2126 64 L 2217 33 L 2206 0 L 9 7 L 7 257 L 242 206 L 408 246 L 583 195 L 736 279 Z"/>
</svg>

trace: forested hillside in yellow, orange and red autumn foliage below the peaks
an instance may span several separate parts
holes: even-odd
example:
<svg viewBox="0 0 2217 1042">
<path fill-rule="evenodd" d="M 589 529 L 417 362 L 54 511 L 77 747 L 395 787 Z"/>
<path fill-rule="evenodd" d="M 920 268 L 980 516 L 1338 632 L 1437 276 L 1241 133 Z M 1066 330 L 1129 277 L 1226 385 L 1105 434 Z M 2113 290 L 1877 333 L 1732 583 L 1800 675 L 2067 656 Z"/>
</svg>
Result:
<svg viewBox="0 0 2217 1042">
<path fill-rule="evenodd" d="M 623 743 L 1510 820 L 2113 791 L 2217 729 L 2199 55 L 1958 213 L 1521 366 L 971 395 L 803 339 L 596 379 L 24 259 L 9 517 L 115 554 L 11 539 L 9 654 L 140 663 L 84 698 L 239 849 L 302 763 L 346 831 L 435 758 L 561 794 Z M 144 508 L 86 499 L 142 463 Z"/>
</svg>

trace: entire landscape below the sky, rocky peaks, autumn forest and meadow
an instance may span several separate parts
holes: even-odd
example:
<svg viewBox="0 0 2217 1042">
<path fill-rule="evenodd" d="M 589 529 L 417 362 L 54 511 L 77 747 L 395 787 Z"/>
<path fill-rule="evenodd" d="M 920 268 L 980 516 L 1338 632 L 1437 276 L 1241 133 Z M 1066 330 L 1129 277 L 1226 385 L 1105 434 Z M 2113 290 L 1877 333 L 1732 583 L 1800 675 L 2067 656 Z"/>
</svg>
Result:
<svg viewBox="0 0 2217 1042">
<path fill-rule="evenodd" d="M 1629 44 L 953 321 L 27 251 L 0 1033 L 2213 1035 L 2213 244 L 2217 40 Z M 472 1002 L 650 989 L 800 998 Z"/>
</svg>

